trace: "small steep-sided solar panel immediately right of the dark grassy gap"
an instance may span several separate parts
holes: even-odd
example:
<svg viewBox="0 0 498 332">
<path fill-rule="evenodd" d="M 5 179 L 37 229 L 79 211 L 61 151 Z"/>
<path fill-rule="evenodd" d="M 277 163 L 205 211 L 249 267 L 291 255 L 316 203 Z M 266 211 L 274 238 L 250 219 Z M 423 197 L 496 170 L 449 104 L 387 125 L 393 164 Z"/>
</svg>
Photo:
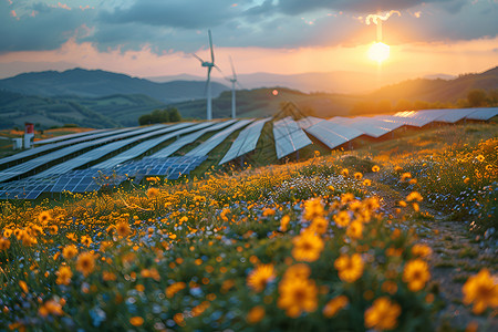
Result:
<svg viewBox="0 0 498 332">
<path fill-rule="evenodd" d="M 273 122 L 273 136 L 279 159 L 313 144 L 290 116 Z"/>
</svg>

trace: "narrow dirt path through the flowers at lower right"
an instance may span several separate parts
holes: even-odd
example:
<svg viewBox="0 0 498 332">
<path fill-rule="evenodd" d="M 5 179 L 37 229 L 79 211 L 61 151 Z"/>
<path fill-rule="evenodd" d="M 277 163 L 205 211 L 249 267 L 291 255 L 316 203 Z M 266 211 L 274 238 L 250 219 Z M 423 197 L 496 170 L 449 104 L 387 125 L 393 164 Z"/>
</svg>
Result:
<svg viewBox="0 0 498 332">
<path fill-rule="evenodd" d="M 406 193 L 395 191 L 387 186 L 376 187 L 373 191 L 382 197 L 386 214 L 394 214 L 396 201 L 406 197 Z M 477 323 L 479 332 L 498 331 L 498 311 L 484 315 L 473 314 L 471 308 L 463 303 L 461 292 L 468 277 L 476 274 L 481 268 L 487 268 L 494 274 L 498 272 L 496 242 L 490 246 L 490 242 L 476 240 L 476 235 L 468 231 L 466 222 L 448 221 L 447 216 L 426 207 L 424 203 L 421 204 L 421 211 L 428 212 L 434 219 L 407 219 L 411 227 L 417 230 L 418 241 L 433 249 L 429 258 L 432 286 L 443 299 L 435 325 L 443 326 L 439 331 L 466 331 L 469 324 Z"/>
</svg>

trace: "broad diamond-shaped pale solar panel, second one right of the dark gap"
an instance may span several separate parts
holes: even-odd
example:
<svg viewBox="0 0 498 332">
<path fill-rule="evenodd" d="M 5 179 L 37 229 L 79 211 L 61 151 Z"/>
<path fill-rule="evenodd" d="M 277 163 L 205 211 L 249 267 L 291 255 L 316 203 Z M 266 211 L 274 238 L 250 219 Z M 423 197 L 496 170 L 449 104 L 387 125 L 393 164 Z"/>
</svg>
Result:
<svg viewBox="0 0 498 332">
<path fill-rule="evenodd" d="M 305 132 L 317 137 L 331 149 L 363 135 L 363 132 L 354 127 L 330 121 L 319 122 L 314 126 L 307 128 Z"/>
</svg>

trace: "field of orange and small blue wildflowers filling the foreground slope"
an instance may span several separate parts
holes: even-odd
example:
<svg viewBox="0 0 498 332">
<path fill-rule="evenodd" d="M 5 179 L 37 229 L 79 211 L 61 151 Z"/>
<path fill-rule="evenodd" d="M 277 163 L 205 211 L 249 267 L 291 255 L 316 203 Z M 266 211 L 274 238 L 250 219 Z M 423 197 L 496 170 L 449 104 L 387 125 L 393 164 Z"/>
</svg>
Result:
<svg viewBox="0 0 498 332">
<path fill-rule="evenodd" d="M 0 330 L 492 331 L 497 256 L 458 286 L 465 325 L 442 314 L 433 276 L 443 217 L 497 252 L 498 131 L 474 126 L 458 142 L 436 128 L 303 163 L 3 201 Z"/>
</svg>

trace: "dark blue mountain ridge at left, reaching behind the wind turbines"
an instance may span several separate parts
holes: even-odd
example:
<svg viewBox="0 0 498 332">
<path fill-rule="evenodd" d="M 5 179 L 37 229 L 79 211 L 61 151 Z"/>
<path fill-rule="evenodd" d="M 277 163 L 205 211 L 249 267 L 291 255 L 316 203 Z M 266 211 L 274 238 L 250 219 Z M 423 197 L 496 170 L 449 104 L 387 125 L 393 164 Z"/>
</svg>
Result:
<svg viewBox="0 0 498 332">
<path fill-rule="evenodd" d="M 0 80 L 0 89 L 29 95 L 77 95 L 93 98 L 114 94 L 146 94 L 164 103 L 205 96 L 205 82 L 174 81 L 156 83 L 125 74 L 83 69 L 73 69 L 64 72 L 24 73 Z M 225 90 L 228 90 L 228 87 L 212 82 L 211 91 L 214 95 L 218 95 Z"/>
</svg>

